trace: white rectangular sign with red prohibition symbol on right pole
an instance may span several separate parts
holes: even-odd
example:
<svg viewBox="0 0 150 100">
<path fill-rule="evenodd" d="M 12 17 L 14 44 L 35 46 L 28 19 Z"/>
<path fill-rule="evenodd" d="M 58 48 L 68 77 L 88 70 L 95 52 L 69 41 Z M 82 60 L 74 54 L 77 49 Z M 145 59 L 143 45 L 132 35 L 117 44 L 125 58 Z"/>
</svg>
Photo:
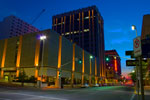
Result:
<svg viewBox="0 0 150 100">
<path fill-rule="evenodd" d="M 133 40 L 134 56 L 139 57 L 142 55 L 141 49 L 141 37 L 137 37 Z"/>
</svg>

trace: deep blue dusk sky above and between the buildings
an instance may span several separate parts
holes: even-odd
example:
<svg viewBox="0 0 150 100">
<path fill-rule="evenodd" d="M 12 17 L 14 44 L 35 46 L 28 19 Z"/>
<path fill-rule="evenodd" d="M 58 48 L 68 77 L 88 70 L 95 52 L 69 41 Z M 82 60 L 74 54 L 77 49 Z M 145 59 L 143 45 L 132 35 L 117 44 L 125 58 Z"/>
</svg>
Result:
<svg viewBox="0 0 150 100">
<path fill-rule="evenodd" d="M 104 19 L 105 49 L 116 49 L 125 57 L 126 50 L 133 49 L 131 25 L 137 26 L 141 35 L 142 18 L 150 14 L 150 0 L 0 0 L 0 21 L 8 15 L 16 15 L 31 23 L 33 19 L 46 9 L 45 13 L 33 24 L 43 30 L 52 27 L 52 16 L 96 5 Z M 121 59 L 122 72 L 131 72 L 125 59 Z"/>
</svg>

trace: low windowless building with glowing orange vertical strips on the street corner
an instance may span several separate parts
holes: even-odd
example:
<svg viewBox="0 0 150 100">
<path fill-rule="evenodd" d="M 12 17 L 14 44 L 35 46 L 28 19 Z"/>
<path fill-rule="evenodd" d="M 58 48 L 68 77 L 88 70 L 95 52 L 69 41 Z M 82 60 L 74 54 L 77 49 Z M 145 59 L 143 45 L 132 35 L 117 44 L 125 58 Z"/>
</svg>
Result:
<svg viewBox="0 0 150 100">
<path fill-rule="evenodd" d="M 40 40 L 41 35 L 46 35 L 46 40 Z M 42 76 L 42 81 L 56 87 L 60 77 L 62 84 L 95 84 L 96 59 L 52 30 L 0 40 L 1 79 L 5 81 L 23 71 L 28 78 L 40 80 Z"/>
</svg>

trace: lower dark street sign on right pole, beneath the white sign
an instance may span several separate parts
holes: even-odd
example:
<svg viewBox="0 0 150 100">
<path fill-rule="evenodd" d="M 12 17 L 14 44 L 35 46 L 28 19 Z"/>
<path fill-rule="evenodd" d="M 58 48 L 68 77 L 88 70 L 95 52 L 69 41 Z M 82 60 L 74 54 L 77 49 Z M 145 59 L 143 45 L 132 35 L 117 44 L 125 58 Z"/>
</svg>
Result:
<svg viewBox="0 0 150 100">
<path fill-rule="evenodd" d="M 139 60 L 126 60 L 126 66 L 137 66 L 139 65 Z M 147 60 L 142 61 L 142 66 L 147 66 Z"/>
</svg>

